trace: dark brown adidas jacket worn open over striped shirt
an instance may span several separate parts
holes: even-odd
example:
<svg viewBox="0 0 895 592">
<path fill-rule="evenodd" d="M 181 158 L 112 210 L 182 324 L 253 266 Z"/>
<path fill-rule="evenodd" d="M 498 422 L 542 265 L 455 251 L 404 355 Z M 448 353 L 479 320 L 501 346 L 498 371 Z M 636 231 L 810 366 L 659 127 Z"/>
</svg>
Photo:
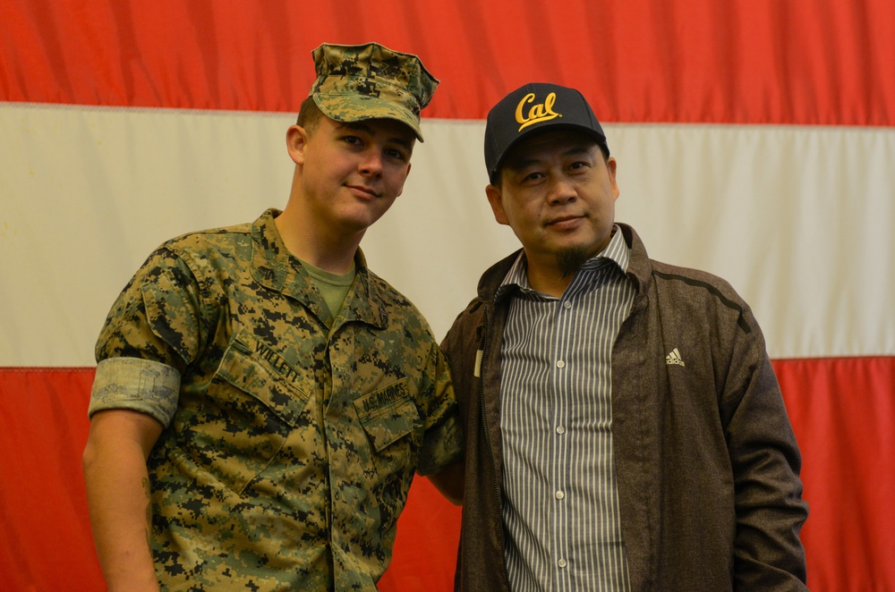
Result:
<svg viewBox="0 0 895 592">
<path fill-rule="evenodd" d="M 619 227 L 636 288 L 611 362 L 631 589 L 806 589 L 801 457 L 752 310 L 717 276 L 648 258 Z M 458 590 L 509 590 L 499 427 L 509 298 L 494 294 L 517 255 L 482 275 L 442 343 L 466 445 Z M 683 364 L 667 359 L 676 349 Z"/>
</svg>

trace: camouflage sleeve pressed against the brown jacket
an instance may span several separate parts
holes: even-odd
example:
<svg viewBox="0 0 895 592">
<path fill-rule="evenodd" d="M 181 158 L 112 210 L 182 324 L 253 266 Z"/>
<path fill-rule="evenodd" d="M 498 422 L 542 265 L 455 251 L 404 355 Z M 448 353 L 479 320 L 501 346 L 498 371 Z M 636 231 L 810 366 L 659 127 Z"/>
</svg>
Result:
<svg viewBox="0 0 895 592">
<path fill-rule="evenodd" d="M 437 343 L 433 343 L 424 379 L 423 396 L 428 396 L 429 413 L 426 433 L 417 472 L 430 475 L 463 457 L 463 433 L 451 382 L 447 358 Z M 427 395 L 428 393 L 428 395 Z"/>
</svg>

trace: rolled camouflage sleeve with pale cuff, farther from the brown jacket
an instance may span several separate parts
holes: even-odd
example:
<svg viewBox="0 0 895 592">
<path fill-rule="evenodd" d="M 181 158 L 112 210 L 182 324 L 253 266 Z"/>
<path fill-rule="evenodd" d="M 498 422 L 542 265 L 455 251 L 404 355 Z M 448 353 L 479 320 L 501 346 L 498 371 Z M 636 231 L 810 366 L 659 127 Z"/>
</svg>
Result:
<svg viewBox="0 0 895 592">
<path fill-rule="evenodd" d="M 100 410 L 174 417 L 183 368 L 198 353 L 200 288 L 175 253 L 158 249 L 115 301 L 96 347 L 90 417 Z"/>
</svg>

